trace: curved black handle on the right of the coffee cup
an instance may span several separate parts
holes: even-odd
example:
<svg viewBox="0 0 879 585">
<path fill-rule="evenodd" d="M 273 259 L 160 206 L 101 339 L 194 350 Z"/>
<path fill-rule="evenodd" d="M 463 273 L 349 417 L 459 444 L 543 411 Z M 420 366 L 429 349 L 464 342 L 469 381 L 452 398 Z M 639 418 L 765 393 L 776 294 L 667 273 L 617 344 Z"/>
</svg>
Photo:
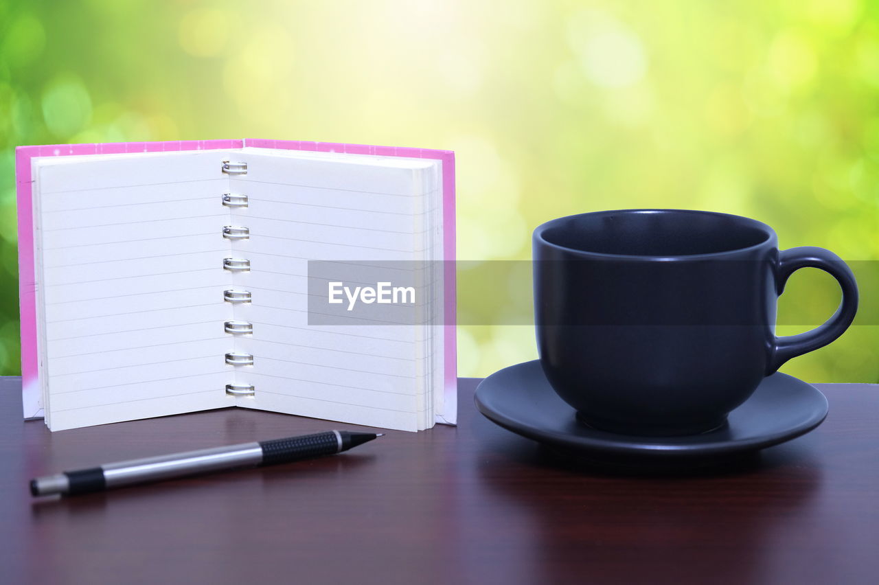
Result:
<svg viewBox="0 0 879 585">
<path fill-rule="evenodd" d="M 820 268 L 836 278 L 842 288 L 842 302 L 839 303 L 836 313 L 816 329 L 796 336 L 774 337 L 766 375 L 774 373 L 790 358 L 802 356 L 831 343 L 848 329 L 858 311 L 858 285 L 854 280 L 854 273 L 842 258 L 829 249 L 803 246 L 783 250 L 779 254 L 778 269 L 775 272 L 775 286 L 779 295 L 784 292 L 784 285 L 790 275 L 801 268 Z"/>
</svg>

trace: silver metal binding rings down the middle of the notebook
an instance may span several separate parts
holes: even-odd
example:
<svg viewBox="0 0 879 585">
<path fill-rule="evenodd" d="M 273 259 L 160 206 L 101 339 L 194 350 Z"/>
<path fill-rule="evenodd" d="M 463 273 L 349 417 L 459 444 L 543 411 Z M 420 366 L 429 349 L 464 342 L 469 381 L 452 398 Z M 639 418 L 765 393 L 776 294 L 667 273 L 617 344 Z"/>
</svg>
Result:
<svg viewBox="0 0 879 585">
<path fill-rule="evenodd" d="M 223 161 L 221 167 L 222 173 L 229 177 L 236 177 L 247 174 L 247 162 Z M 224 192 L 221 197 L 222 205 L 229 207 L 231 212 L 249 206 L 247 195 L 243 193 Z M 251 239 L 251 230 L 246 226 L 229 225 L 222 227 L 222 237 L 232 243 L 233 249 L 235 242 Z M 241 257 L 226 257 L 222 260 L 222 268 L 229 271 L 233 275 L 236 273 L 246 273 L 251 271 L 251 260 Z M 237 305 L 249 305 L 251 303 L 251 292 L 240 288 L 229 288 L 222 293 L 224 302 L 231 304 L 233 307 Z M 236 313 L 235 311 L 233 313 Z M 251 336 L 253 335 L 253 323 L 240 319 L 230 319 L 223 322 L 223 332 L 229 336 Z M 224 356 L 225 362 L 234 368 L 241 368 L 253 365 L 253 354 L 246 351 L 229 351 Z M 226 394 L 229 396 L 254 396 L 256 389 L 252 384 L 240 383 L 236 379 L 235 384 L 226 385 Z"/>
</svg>

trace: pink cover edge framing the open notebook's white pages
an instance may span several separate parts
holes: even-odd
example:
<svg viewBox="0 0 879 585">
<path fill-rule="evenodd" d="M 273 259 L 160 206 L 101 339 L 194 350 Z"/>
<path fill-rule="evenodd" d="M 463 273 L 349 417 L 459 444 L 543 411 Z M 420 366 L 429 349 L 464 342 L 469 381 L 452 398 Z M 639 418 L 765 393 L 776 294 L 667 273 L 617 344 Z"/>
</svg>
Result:
<svg viewBox="0 0 879 585">
<path fill-rule="evenodd" d="M 446 323 L 455 322 L 454 270 L 454 152 L 426 148 L 398 148 L 338 144 L 334 142 L 270 141 L 261 139 L 167 142 L 113 142 L 105 144 L 61 144 L 23 146 L 15 150 L 16 189 L 18 193 L 18 299 L 21 311 L 21 376 L 25 418 L 40 418 L 39 370 L 37 365 L 37 306 L 33 259 L 33 177 L 31 159 L 35 156 L 111 155 L 138 152 L 175 152 L 180 150 L 217 150 L 226 148 L 277 148 L 342 152 L 354 155 L 403 156 L 442 161 L 443 183 L 443 257 L 446 294 Z M 457 397 L 455 326 L 444 326 L 446 354 L 445 392 L 452 404 Z"/>
</svg>

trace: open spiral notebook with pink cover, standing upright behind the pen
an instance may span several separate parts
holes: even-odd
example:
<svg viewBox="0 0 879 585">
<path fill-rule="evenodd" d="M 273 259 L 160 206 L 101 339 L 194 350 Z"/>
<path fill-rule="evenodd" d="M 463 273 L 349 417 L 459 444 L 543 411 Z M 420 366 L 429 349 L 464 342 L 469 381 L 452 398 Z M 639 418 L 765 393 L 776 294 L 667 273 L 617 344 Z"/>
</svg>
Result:
<svg viewBox="0 0 879 585">
<path fill-rule="evenodd" d="M 239 406 L 455 422 L 451 152 L 20 147 L 17 175 L 25 418 L 64 430 Z M 316 325 L 309 261 L 432 266 L 418 289 L 432 318 Z"/>
</svg>

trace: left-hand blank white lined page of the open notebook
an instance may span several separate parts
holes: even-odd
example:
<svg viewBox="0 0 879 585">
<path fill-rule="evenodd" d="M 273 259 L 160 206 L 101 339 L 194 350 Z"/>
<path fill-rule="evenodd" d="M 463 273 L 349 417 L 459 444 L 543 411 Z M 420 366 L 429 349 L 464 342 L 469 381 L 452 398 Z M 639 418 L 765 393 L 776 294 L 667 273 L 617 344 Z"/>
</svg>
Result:
<svg viewBox="0 0 879 585">
<path fill-rule="evenodd" d="M 52 430 L 234 404 L 222 151 L 35 159 Z"/>
</svg>

